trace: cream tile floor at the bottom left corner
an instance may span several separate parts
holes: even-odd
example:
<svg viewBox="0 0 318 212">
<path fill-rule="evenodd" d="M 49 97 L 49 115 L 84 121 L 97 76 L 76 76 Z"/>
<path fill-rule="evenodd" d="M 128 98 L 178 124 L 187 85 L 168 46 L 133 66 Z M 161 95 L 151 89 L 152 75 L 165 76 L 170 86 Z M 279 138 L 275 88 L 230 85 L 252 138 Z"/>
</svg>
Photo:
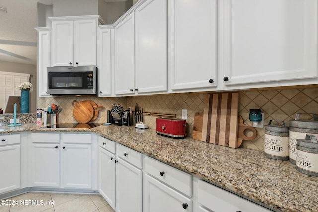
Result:
<svg viewBox="0 0 318 212">
<path fill-rule="evenodd" d="M 0 212 L 114 212 L 97 194 L 28 192 L 5 201 L 17 204 L 5 205 L 1 202 Z"/>
</svg>

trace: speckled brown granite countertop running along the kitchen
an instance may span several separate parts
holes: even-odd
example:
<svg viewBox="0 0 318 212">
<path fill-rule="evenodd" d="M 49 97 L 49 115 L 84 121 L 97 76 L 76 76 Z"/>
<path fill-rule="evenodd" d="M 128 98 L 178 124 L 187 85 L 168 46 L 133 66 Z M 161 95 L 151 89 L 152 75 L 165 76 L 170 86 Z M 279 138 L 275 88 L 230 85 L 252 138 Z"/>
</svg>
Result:
<svg viewBox="0 0 318 212">
<path fill-rule="evenodd" d="M 0 127 L 0 133 L 20 131 L 56 130 L 41 129 L 36 124 L 10 129 Z M 318 211 L 318 177 L 297 171 L 289 161 L 269 159 L 261 151 L 232 149 L 190 137 L 171 139 L 157 135 L 153 129 L 114 125 L 102 125 L 90 130 L 58 131 L 95 132 L 284 212 Z"/>
</svg>

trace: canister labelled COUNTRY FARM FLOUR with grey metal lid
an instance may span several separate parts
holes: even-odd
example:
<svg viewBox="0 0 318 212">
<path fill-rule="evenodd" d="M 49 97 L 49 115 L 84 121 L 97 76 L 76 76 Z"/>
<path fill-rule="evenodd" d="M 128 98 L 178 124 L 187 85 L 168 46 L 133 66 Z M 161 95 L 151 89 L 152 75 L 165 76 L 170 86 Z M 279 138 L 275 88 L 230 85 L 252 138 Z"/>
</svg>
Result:
<svg viewBox="0 0 318 212">
<path fill-rule="evenodd" d="M 276 160 L 289 159 L 289 129 L 284 121 L 281 125 L 271 125 L 270 120 L 268 125 L 265 125 L 265 156 Z"/>
</svg>

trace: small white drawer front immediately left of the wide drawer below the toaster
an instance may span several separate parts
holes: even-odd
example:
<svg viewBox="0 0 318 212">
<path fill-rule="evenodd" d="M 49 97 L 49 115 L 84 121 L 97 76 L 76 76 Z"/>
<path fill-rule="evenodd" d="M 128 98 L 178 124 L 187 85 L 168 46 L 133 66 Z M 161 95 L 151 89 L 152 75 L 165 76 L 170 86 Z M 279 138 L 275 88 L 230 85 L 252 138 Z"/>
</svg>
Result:
<svg viewBox="0 0 318 212">
<path fill-rule="evenodd" d="M 116 155 L 140 169 L 143 167 L 143 154 L 138 151 L 117 143 Z"/>
</svg>

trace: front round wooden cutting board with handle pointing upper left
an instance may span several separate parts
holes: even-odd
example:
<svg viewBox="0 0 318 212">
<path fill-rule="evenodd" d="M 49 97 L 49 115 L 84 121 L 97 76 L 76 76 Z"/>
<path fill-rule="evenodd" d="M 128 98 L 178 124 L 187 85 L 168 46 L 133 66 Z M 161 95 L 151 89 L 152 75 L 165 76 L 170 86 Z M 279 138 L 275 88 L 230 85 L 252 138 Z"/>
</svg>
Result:
<svg viewBox="0 0 318 212">
<path fill-rule="evenodd" d="M 94 107 L 86 101 L 72 102 L 74 107 L 73 116 L 74 119 L 79 123 L 88 123 L 94 116 Z"/>
</svg>

